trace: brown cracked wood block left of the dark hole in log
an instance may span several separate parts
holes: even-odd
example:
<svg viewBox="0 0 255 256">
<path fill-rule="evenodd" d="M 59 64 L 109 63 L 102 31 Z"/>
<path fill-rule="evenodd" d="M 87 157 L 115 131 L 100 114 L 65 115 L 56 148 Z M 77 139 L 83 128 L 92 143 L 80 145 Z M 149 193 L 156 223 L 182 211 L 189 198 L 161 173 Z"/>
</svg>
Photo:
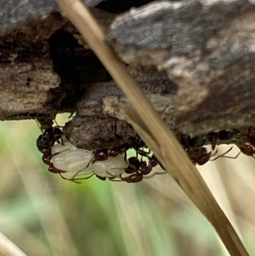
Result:
<svg viewBox="0 0 255 256">
<path fill-rule="evenodd" d="M 47 102 L 50 89 L 60 82 L 47 51 L 1 49 L 0 119 L 54 118 L 57 111 L 50 111 Z"/>
</svg>

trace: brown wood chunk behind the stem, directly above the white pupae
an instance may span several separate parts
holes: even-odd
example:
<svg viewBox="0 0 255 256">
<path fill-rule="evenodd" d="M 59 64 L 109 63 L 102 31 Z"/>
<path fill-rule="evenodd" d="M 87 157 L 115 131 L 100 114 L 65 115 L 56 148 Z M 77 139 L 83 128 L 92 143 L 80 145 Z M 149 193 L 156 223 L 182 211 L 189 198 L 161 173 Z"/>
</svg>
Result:
<svg viewBox="0 0 255 256">
<path fill-rule="evenodd" d="M 163 73 L 139 75 L 136 80 L 164 120 L 174 128 L 172 100 L 177 86 Z M 85 149 L 102 145 L 113 147 L 126 142 L 128 137 L 136 135 L 120 111 L 128 105 L 127 98 L 115 82 L 92 84 L 78 103 L 76 116 L 64 128 L 68 141 Z"/>
</svg>

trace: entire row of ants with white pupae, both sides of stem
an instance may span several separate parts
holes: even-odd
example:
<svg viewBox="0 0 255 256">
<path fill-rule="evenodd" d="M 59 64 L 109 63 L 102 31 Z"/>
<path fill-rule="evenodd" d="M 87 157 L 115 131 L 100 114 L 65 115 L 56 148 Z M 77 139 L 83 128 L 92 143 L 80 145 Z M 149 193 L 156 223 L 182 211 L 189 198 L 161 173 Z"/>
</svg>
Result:
<svg viewBox="0 0 255 256">
<path fill-rule="evenodd" d="M 204 165 L 209 160 L 214 161 L 220 157 L 237 158 L 241 152 L 248 156 L 254 156 L 255 151 L 252 146 L 254 141 L 249 141 L 240 148 L 240 153 L 235 157 L 225 156 L 232 147 L 224 154 L 216 156 L 213 160 L 213 154 L 217 140 L 228 142 L 237 134 L 237 130 L 221 131 L 218 133 L 208 133 L 198 137 L 189 137 L 182 135 L 181 144 L 186 150 L 191 162 L 194 165 Z M 42 160 L 48 165 L 48 170 L 55 174 L 60 174 L 63 179 L 78 182 L 80 179 L 89 179 L 95 175 L 101 180 L 110 179 L 111 181 L 125 181 L 127 183 L 138 183 L 142 181 L 143 176 L 147 176 L 152 172 L 156 165 L 161 165 L 156 156 L 150 151 L 144 150 L 145 144 L 140 137 L 130 137 L 128 142 L 115 146 L 112 148 L 101 148 L 92 153 L 85 149 L 78 149 L 69 142 L 55 144 L 59 142 L 63 133 L 57 127 L 48 128 L 40 135 L 36 141 L 36 145 L 41 153 L 43 153 Z M 207 151 L 205 144 L 210 142 L 212 151 Z M 254 144 L 254 145 L 253 145 Z M 135 149 L 136 157 L 126 159 L 128 149 Z M 143 161 L 140 156 L 148 159 L 148 163 Z M 163 167 L 162 167 L 163 168 Z M 164 168 L 163 168 L 164 169 Z M 68 173 L 70 178 L 64 177 L 62 174 Z M 165 173 L 165 172 L 161 172 Z M 156 174 L 161 174 L 157 173 Z M 88 177 L 77 177 L 81 174 L 90 175 Z"/>
</svg>

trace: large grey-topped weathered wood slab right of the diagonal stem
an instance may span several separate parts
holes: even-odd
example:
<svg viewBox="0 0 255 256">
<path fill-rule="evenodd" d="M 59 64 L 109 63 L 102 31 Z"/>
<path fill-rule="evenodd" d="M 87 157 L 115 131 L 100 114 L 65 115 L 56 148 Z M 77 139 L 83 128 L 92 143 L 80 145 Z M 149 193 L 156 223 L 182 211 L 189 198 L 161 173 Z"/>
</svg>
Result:
<svg viewBox="0 0 255 256">
<path fill-rule="evenodd" d="M 119 15 L 106 40 L 133 66 L 165 70 L 176 126 L 198 135 L 254 126 L 255 4 L 158 1 Z"/>
</svg>

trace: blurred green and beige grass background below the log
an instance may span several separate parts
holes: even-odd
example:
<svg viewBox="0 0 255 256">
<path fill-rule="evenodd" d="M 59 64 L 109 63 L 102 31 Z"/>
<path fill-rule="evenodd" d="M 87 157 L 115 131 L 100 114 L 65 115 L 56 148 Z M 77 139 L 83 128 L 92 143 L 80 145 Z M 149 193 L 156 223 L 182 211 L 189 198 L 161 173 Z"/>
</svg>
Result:
<svg viewBox="0 0 255 256">
<path fill-rule="evenodd" d="M 0 231 L 27 255 L 228 255 L 168 174 L 137 184 L 96 177 L 80 185 L 64 181 L 41 161 L 40 133 L 35 121 L 0 123 Z M 219 147 L 220 153 L 229 147 Z M 254 166 L 254 159 L 240 155 L 200 167 L 250 255 L 255 255 Z"/>
</svg>

